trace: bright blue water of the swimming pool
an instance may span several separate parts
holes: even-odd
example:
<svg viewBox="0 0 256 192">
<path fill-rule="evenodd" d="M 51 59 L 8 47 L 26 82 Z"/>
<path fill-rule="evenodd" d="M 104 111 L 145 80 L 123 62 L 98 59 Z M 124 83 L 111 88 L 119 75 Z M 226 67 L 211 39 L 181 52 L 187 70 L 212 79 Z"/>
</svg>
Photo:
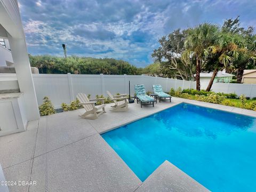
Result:
<svg viewBox="0 0 256 192">
<path fill-rule="evenodd" d="M 181 103 L 102 137 L 141 181 L 167 159 L 212 191 L 256 191 L 255 123 Z"/>
</svg>

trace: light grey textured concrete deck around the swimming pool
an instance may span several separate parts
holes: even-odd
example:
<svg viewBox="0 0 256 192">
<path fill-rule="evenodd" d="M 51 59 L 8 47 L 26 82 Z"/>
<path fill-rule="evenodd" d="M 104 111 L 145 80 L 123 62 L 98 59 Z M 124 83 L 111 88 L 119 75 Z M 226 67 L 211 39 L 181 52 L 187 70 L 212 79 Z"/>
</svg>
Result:
<svg viewBox="0 0 256 192">
<path fill-rule="evenodd" d="M 141 192 L 155 183 L 154 191 L 166 191 L 164 189 L 171 189 L 175 184 L 172 175 L 178 174 L 180 187 L 172 191 L 189 191 L 191 183 L 197 186 L 197 191 L 206 191 L 182 171 L 170 174 L 175 169 L 166 162 L 158 167 L 164 172 L 157 169 L 142 183 L 100 136 L 100 133 L 181 102 L 256 117 L 255 111 L 181 98 L 172 98 L 171 103 L 157 102 L 154 108 L 140 108 L 135 102 L 129 105 L 128 111 L 120 113 L 110 111 L 113 104 L 109 104 L 107 113 L 95 120 L 80 118 L 78 115 L 83 109 L 44 116 L 39 121 L 29 122 L 25 132 L 0 137 L 0 163 L 6 181 L 36 181 L 36 186 L 14 185 L 9 190 Z"/>
</svg>

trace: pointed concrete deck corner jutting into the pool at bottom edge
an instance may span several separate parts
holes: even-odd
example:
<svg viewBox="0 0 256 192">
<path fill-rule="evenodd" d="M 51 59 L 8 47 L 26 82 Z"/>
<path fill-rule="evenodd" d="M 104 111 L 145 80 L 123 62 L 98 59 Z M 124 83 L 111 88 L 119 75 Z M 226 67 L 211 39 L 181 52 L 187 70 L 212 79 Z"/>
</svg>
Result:
<svg viewBox="0 0 256 192">
<path fill-rule="evenodd" d="M 134 192 L 210 191 L 178 167 L 165 161 Z"/>
</svg>

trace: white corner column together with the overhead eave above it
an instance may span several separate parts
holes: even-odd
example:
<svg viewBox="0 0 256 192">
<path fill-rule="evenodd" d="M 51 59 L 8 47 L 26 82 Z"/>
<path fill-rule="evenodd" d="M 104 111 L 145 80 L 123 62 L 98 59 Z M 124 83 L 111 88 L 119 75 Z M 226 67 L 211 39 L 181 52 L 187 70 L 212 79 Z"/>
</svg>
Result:
<svg viewBox="0 0 256 192">
<path fill-rule="evenodd" d="M 0 25 L 5 29 L 5 35 L 9 39 L 19 89 L 23 93 L 23 115 L 27 121 L 39 119 L 35 87 L 17 0 L 0 0 Z"/>
</svg>

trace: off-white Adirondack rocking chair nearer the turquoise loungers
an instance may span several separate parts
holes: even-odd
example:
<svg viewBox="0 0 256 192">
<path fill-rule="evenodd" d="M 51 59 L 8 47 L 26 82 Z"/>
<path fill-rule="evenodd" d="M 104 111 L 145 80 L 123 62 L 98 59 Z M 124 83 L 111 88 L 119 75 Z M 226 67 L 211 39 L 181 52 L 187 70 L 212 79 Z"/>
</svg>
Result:
<svg viewBox="0 0 256 192">
<path fill-rule="evenodd" d="M 127 94 L 115 95 L 113 96 L 109 91 L 107 91 L 108 96 L 110 97 L 111 101 L 114 101 L 115 105 L 112 111 L 126 111 L 128 109 L 128 100 Z"/>
</svg>

